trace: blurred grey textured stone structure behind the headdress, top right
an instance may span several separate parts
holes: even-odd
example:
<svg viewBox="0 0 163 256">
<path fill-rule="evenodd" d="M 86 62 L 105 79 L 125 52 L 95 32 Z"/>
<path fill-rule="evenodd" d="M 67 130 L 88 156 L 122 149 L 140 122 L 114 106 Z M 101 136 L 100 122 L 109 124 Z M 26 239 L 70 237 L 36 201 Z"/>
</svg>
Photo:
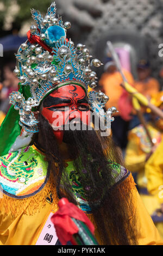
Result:
<svg viewBox="0 0 163 256">
<path fill-rule="evenodd" d="M 70 36 L 87 44 L 92 53 L 104 56 L 105 41 L 124 42 L 136 48 L 136 56 L 151 60 L 153 76 L 159 78 L 163 57 L 163 0 L 56 0 L 59 13 L 72 21 Z M 72 33 L 72 34 L 71 34 Z M 144 38 L 143 38 L 144 37 Z M 102 72 L 102 69 L 101 69 Z M 100 74 L 99 74 L 100 75 Z"/>
</svg>

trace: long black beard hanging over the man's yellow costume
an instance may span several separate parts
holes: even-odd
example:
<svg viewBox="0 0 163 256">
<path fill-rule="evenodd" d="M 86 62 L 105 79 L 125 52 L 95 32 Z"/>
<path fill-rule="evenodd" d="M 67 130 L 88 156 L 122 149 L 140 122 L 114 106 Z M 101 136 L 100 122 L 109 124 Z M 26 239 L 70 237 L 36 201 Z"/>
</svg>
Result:
<svg viewBox="0 0 163 256">
<path fill-rule="evenodd" d="M 41 114 L 39 121 L 40 130 L 35 138 L 35 145 L 46 155 L 48 169 L 53 171 L 56 180 L 58 197 L 66 196 L 70 202 L 77 204 L 53 129 Z M 133 223 L 128 221 L 134 215 L 130 190 L 126 189 L 124 194 L 122 186 L 112 187 L 112 170 L 108 159 L 121 164 L 121 158 L 111 138 L 101 137 L 95 130 L 64 131 L 64 137 L 68 142 L 70 157 L 74 159 L 74 170 L 96 222 L 101 243 L 136 245 L 134 216 Z M 58 163 L 58 168 L 54 168 L 54 163 Z"/>
</svg>

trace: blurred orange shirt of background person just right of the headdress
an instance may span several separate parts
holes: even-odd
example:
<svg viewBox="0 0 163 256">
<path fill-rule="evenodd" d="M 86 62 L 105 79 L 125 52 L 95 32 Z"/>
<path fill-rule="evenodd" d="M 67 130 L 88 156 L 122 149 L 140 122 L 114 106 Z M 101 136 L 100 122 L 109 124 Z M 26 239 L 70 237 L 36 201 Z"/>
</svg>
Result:
<svg viewBox="0 0 163 256">
<path fill-rule="evenodd" d="M 133 85 L 134 78 L 131 73 L 127 70 L 123 70 L 124 76 L 127 81 Z M 106 103 L 105 108 L 108 109 L 112 106 L 116 107 L 118 110 L 118 100 L 123 92 L 123 88 L 120 86 L 122 83 L 122 76 L 120 72 L 116 71 L 112 74 L 105 72 L 99 81 L 99 86 L 102 87 L 102 91 L 109 96 L 109 101 Z"/>
</svg>

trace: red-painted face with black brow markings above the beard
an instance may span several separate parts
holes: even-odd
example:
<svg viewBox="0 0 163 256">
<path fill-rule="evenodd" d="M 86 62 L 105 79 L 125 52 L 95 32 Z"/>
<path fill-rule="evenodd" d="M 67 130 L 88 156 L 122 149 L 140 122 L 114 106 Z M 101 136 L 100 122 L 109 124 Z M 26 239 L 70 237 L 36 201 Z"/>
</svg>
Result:
<svg viewBox="0 0 163 256">
<path fill-rule="evenodd" d="M 60 87 L 49 94 L 43 101 L 41 111 L 49 124 L 52 125 L 58 142 L 62 142 L 64 131 L 62 127 L 70 124 L 73 119 L 79 119 L 90 126 L 90 108 L 85 90 L 73 84 Z"/>
</svg>

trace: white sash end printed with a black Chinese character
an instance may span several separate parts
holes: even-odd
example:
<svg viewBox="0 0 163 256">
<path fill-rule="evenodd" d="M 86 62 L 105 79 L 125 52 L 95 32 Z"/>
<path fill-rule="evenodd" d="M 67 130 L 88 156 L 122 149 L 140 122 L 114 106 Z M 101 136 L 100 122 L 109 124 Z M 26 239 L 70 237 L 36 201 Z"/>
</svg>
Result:
<svg viewBox="0 0 163 256">
<path fill-rule="evenodd" d="M 49 214 L 49 217 L 41 231 L 36 245 L 55 245 L 55 243 L 57 242 L 58 236 L 56 234 L 54 224 L 51 221 L 51 217 L 53 216 L 53 214 L 53 212 Z"/>
</svg>

